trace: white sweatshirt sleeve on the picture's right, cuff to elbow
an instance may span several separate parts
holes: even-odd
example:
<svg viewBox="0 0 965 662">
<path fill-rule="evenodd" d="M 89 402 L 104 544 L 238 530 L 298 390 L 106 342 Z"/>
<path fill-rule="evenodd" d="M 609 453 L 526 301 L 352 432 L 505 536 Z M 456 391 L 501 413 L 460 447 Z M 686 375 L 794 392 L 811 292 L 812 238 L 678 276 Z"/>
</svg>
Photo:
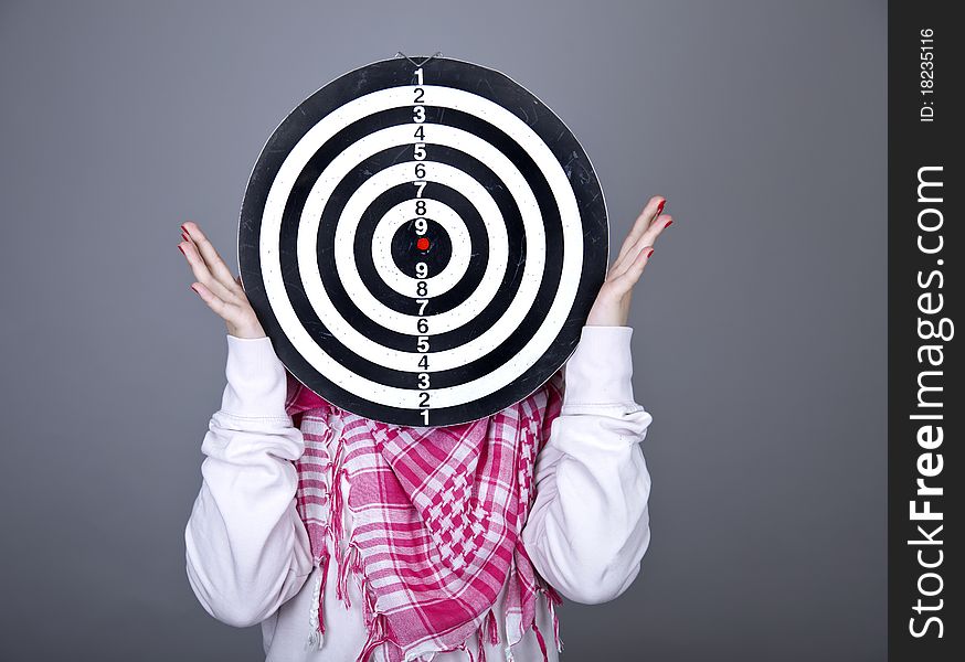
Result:
<svg viewBox="0 0 965 662">
<path fill-rule="evenodd" d="M 523 546 L 575 602 L 622 595 L 650 542 L 641 441 L 653 417 L 634 402 L 632 335 L 632 327 L 583 327 L 563 372 L 562 410 L 537 458 Z"/>
</svg>

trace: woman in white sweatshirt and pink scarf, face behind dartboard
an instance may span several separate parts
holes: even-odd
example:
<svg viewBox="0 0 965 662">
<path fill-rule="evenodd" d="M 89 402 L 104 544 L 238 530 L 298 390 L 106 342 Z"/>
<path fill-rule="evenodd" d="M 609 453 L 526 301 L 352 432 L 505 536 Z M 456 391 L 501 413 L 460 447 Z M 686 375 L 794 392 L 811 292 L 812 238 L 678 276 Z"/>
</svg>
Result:
<svg viewBox="0 0 965 662">
<path fill-rule="evenodd" d="M 640 441 L 651 416 L 633 397 L 626 323 L 633 287 L 671 223 L 665 202 L 650 199 L 624 241 L 565 365 L 565 388 L 551 380 L 517 405 L 533 405 L 540 425 L 529 429 L 537 431 L 519 434 L 518 421 L 508 446 L 497 439 L 512 427 L 505 421 L 519 418 L 500 418 L 513 408 L 467 426 L 407 428 L 425 435 L 410 437 L 407 466 L 403 452 L 386 450 L 386 435 L 400 428 L 369 425 L 298 384 L 240 279 L 195 223 L 182 225 L 178 247 L 197 278 L 191 288 L 224 319 L 229 344 L 227 385 L 202 444 L 203 480 L 185 528 L 188 577 L 204 609 L 232 626 L 261 623 L 267 660 L 558 660 L 560 596 L 616 598 L 649 544 Z M 445 492 L 432 489 L 438 457 L 417 457 L 432 447 L 431 434 L 457 428 L 446 448 L 482 451 L 470 471 L 449 477 L 471 483 L 495 466 L 495 449 L 515 453 L 509 473 L 464 485 L 457 505 L 474 511 L 443 516 L 466 514 L 459 531 L 476 527 L 479 546 L 462 555 L 433 528 L 443 502 L 432 498 Z M 360 457 L 381 462 L 378 482 L 374 465 L 346 469 Z M 407 480 L 420 468 L 426 473 Z M 500 496 L 484 508 L 476 491 L 487 485 Z M 400 522 L 415 536 L 404 537 Z"/>
</svg>

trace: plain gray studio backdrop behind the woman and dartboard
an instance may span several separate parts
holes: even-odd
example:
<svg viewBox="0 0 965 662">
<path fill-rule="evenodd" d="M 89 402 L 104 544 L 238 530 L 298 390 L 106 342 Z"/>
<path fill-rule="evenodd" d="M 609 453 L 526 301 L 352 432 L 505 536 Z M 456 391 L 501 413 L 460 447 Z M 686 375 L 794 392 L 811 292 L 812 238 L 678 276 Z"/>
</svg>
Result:
<svg viewBox="0 0 965 662">
<path fill-rule="evenodd" d="M 178 226 L 235 250 L 282 118 L 361 64 L 500 70 L 574 130 L 654 415 L 636 584 L 565 660 L 882 660 L 886 2 L 3 2 L 3 660 L 258 660 L 184 574 L 223 323 Z M 616 245 L 614 242 L 613 253 Z M 233 265 L 235 267 L 236 265 Z"/>
</svg>

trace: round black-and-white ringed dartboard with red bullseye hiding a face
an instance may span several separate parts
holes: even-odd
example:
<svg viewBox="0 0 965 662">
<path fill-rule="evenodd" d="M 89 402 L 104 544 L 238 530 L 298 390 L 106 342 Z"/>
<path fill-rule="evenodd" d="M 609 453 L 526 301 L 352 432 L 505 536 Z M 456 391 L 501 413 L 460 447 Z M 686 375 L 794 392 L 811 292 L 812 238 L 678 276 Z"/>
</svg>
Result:
<svg viewBox="0 0 965 662">
<path fill-rule="evenodd" d="M 288 371 L 374 420 L 446 426 L 528 397 L 581 338 L 609 250 L 590 159 L 502 73 L 349 72 L 265 145 L 238 270 Z"/>
</svg>

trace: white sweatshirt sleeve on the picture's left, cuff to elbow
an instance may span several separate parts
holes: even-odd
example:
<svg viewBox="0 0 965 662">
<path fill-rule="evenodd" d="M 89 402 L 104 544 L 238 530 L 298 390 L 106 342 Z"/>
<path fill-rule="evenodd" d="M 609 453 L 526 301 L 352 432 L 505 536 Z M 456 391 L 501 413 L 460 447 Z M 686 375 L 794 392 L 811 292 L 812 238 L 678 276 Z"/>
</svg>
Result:
<svg viewBox="0 0 965 662">
<path fill-rule="evenodd" d="M 202 483 L 184 531 L 188 579 L 211 616 L 256 624 L 311 573 L 296 510 L 305 441 L 285 412 L 285 369 L 269 338 L 227 335 L 227 385 L 201 445 Z"/>
</svg>

